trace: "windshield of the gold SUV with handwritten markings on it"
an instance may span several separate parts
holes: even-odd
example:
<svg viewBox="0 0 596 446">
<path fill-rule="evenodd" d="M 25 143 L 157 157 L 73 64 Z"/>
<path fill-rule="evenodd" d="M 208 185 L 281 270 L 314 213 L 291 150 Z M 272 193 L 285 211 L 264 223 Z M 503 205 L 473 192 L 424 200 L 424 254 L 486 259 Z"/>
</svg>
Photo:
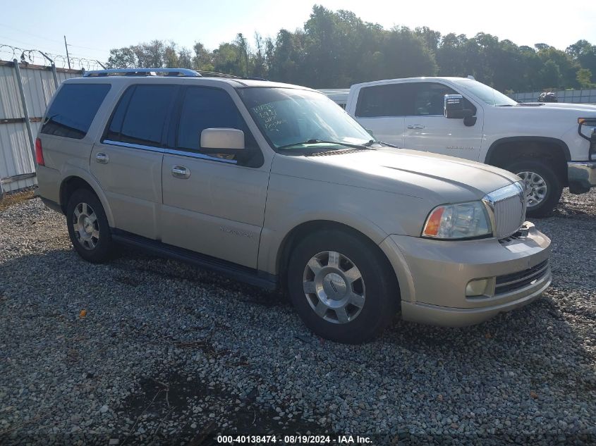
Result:
<svg viewBox="0 0 596 446">
<path fill-rule="evenodd" d="M 252 87 L 238 94 L 275 149 L 305 144 L 365 144 L 371 136 L 322 93 L 303 89 Z"/>
</svg>

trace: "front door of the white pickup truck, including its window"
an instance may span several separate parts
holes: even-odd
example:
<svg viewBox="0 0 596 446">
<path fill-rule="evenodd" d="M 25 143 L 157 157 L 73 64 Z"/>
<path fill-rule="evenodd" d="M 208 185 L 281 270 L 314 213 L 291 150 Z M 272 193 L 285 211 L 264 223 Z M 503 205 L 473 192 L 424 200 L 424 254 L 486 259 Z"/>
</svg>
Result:
<svg viewBox="0 0 596 446">
<path fill-rule="evenodd" d="M 476 123 L 467 127 L 463 119 L 447 119 L 443 114 L 445 94 L 458 94 L 438 82 L 410 82 L 412 112 L 406 116 L 403 147 L 431 151 L 478 161 L 482 143 L 482 108 L 467 99 L 466 108 L 476 112 Z"/>
</svg>

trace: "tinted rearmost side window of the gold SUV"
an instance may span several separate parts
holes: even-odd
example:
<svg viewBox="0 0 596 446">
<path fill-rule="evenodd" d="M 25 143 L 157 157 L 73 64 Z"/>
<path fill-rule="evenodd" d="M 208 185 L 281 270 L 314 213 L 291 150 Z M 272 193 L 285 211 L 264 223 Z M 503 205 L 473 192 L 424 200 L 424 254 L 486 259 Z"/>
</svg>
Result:
<svg viewBox="0 0 596 446">
<path fill-rule="evenodd" d="M 82 139 L 109 89 L 109 84 L 63 85 L 47 111 L 42 133 Z"/>
</svg>

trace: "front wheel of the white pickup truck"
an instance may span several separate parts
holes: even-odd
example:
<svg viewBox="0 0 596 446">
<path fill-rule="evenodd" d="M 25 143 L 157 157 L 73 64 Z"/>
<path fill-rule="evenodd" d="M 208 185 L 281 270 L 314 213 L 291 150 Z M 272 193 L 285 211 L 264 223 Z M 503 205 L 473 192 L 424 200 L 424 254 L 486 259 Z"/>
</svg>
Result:
<svg viewBox="0 0 596 446">
<path fill-rule="evenodd" d="M 557 173 L 547 163 L 537 160 L 516 161 L 506 169 L 516 173 L 525 185 L 526 214 L 529 217 L 548 216 L 559 203 L 563 185 Z"/>
</svg>

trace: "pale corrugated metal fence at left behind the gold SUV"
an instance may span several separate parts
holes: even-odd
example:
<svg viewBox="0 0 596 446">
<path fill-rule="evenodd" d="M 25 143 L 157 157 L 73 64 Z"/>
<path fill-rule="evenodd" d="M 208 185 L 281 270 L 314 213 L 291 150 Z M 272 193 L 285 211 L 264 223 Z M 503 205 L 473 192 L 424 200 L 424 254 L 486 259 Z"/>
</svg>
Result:
<svg viewBox="0 0 596 446">
<path fill-rule="evenodd" d="M 54 87 L 51 70 L 28 68 L 20 65 L 20 75 L 25 90 L 25 101 L 30 118 L 41 118 L 47 108 Z M 80 72 L 57 73 L 58 82 L 80 76 Z M 23 118 L 23 106 L 14 66 L 0 65 L 0 120 Z M 31 130 L 35 139 L 41 123 L 32 122 Z M 0 123 L 0 179 L 32 173 L 35 163 L 31 153 L 27 126 L 22 123 Z M 36 184 L 35 178 L 27 178 L 2 185 L 4 192 L 19 190 Z"/>
</svg>

